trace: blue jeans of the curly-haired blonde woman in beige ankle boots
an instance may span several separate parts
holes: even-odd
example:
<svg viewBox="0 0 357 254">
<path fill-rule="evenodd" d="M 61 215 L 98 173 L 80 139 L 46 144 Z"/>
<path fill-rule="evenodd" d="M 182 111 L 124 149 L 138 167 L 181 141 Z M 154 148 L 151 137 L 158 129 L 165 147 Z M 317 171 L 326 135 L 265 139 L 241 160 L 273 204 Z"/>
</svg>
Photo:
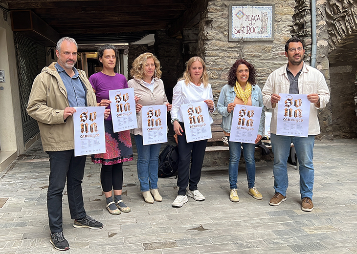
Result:
<svg viewBox="0 0 357 254">
<path fill-rule="evenodd" d="M 158 154 L 161 144 L 143 145 L 142 136 L 134 135 L 137 149 L 137 177 L 140 191 L 157 189 Z"/>
</svg>

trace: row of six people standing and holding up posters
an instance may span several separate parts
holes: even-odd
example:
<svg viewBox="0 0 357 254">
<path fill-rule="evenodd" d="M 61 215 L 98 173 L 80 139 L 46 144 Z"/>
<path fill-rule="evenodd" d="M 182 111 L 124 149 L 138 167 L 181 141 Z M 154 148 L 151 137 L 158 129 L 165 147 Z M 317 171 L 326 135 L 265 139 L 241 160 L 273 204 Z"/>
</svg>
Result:
<svg viewBox="0 0 357 254">
<path fill-rule="evenodd" d="M 312 148 L 314 135 L 320 133 L 317 109 L 326 106 L 330 93 L 323 75 L 303 62 L 304 44 L 299 38 L 291 38 L 285 45 L 288 63 L 272 72 L 261 91 L 256 84 L 256 70 L 244 59 L 237 60 L 228 72 L 228 84 L 224 85 L 217 103 L 222 115 L 224 134 L 229 143 L 229 199 L 239 202 L 237 178 L 241 149 L 245 158 L 248 193 L 255 199 L 263 199 L 255 187 L 255 144 L 229 141 L 232 115 L 236 105 L 272 108 L 270 126 L 272 150 L 274 153 L 275 194 L 269 205 L 278 206 L 286 200 L 288 188 L 287 159 L 290 144 L 294 144 L 300 164 L 301 209 L 312 211 L 312 187 L 314 169 Z M 216 110 L 211 85 L 208 83 L 206 65 L 200 57 L 192 57 L 186 63 L 186 70 L 173 90 L 172 105 L 168 102 L 161 77 L 160 62 L 151 53 L 138 56 L 130 71 L 133 77 L 126 78 L 114 72 L 117 52 L 114 46 L 104 45 L 98 49 L 98 60 L 103 66 L 101 72 L 90 76 L 74 68 L 77 61 L 77 44 L 68 37 L 57 43 L 57 63 L 45 67 L 32 86 L 27 112 L 39 123 L 44 151 L 50 158 L 50 176 L 47 191 L 47 209 L 50 225 L 50 242 L 58 250 L 68 250 L 69 244 L 62 228 L 62 192 L 67 180 L 68 203 L 75 228 L 100 229 L 103 224 L 89 217 L 84 210 L 81 183 L 86 156 L 74 157 L 73 118 L 75 106 L 105 106 L 106 152 L 93 154 L 91 160 L 101 164 L 100 180 L 106 197 L 106 208 L 111 214 L 131 212 L 122 200 L 123 162 L 133 160 L 130 133 L 134 134 L 137 148 L 137 175 L 140 191 L 147 203 L 162 201 L 157 187 L 158 155 L 161 144 L 143 145 L 141 108 L 150 105 L 166 105 L 171 112 L 171 123 L 178 136 L 179 169 L 178 195 L 172 205 L 182 207 L 188 197 L 197 201 L 205 199 L 198 190 L 201 168 L 207 140 L 187 143 L 180 105 L 205 102 L 212 114 Z M 110 115 L 109 90 L 134 88 L 137 128 L 114 132 Z M 307 94 L 311 102 L 309 137 L 276 135 L 276 104 L 279 93 Z M 213 123 L 209 117 L 210 124 Z M 255 143 L 263 136 L 265 112 L 262 110 L 258 135 Z M 191 164 L 191 166 L 190 166 Z M 188 187 L 188 189 L 187 189 Z M 114 194 L 114 197 L 112 196 Z"/>
</svg>

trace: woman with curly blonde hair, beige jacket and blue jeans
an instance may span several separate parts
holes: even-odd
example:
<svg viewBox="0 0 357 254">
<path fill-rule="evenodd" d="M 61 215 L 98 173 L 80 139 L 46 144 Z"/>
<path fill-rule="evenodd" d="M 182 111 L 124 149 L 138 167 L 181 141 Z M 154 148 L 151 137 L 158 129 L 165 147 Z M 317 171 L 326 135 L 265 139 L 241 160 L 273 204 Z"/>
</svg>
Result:
<svg viewBox="0 0 357 254">
<path fill-rule="evenodd" d="M 142 106 L 166 105 L 167 111 L 171 106 L 167 101 L 165 88 L 161 77 L 160 62 L 151 53 L 138 56 L 130 70 L 133 79 L 128 81 L 129 87 L 134 88 L 135 96 L 139 98 L 136 104 L 137 128 L 132 129 L 137 149 L 137 176 L 140 182 L 140 191 L 145 202 L 162 201 L 157 191 L 158 155 L 161 144 L 143 145 L 142 139 Z M 154 198 L 153 198 L 154 196 Z"/>
</svg>

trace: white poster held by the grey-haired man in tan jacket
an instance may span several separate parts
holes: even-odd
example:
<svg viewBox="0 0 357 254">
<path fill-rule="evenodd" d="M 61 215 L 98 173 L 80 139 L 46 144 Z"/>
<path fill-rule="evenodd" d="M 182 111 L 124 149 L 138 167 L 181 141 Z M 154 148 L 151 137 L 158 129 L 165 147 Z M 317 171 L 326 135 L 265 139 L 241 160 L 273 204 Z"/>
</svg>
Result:
<svg viewBox="0 0 357 254">
<path fill-rule="evenodd" d="M 74 156 L 105 152 L 104 106 L 74 107 Z"/>
</svg>

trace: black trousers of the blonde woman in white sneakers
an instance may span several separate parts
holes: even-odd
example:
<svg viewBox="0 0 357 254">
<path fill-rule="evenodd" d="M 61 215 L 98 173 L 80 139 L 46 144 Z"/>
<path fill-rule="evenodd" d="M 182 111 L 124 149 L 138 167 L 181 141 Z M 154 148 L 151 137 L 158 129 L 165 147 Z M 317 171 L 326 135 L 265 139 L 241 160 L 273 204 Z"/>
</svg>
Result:
<svg viewBox="0 0 357 254">
<path fill-rule="evenodd" d="M 197 185 L 201 179 L 201 169 L 207 139 L 187 143 L 185 127 L 183 123 L 180 122 L 179 124 L 183 129 L 183 133 L 182 136 L 178 135 L 179 169 L 177 186 L 179 187 L 178 195 L 186 195 L 188 184 L 190 184 L 190 191 L 197 190 Z"/>
</svg>

